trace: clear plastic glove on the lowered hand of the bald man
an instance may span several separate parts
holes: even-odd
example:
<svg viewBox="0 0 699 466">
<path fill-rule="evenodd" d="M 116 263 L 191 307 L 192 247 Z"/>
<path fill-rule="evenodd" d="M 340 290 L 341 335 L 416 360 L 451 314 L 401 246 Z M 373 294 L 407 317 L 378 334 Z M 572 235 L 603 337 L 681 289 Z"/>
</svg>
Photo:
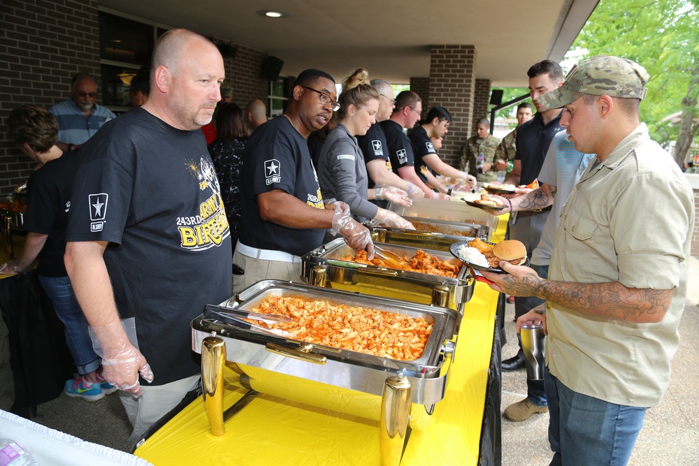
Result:
<svg viewBox="0 0 699 466">
<path fill-rule="evenodd" d="M 150 383 L 153 381 L 153 371 L 143 354 L 129 342 L 122 323 L 90 327 L 89 330 L 93 342 L 98 342 L 95 345 L 96 353 L 102 356 L 102 377 L 122 391 L 143 395 L 138 374 Z"/>
</svg>

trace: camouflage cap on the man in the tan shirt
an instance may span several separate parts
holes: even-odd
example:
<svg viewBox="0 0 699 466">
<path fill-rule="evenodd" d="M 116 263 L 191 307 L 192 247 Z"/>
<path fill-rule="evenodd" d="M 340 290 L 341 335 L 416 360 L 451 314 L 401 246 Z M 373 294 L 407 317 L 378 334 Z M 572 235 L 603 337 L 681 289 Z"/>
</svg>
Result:
<svg viewBox="0 0 699 466">
<path fill-rule="evenodd" d="M 561 87 L 536 100 L 546 108 L 561 108 L 583 94 L 644 99 L 649 78 L 645 68 L 634 61 L 598 55 L 573 66 Z"/>
</svg>

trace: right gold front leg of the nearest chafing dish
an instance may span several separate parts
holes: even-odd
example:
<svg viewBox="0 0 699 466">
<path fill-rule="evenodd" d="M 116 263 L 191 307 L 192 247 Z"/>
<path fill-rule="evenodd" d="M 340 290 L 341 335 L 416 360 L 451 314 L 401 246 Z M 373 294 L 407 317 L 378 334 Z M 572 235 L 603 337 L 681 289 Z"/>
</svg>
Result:
<svg viewBox="0 0 699 466">
<path fill-rule="evenodd" d="M 379 449 L 382 466 L 401 464 L 410 423 L 412 386 L 407 377 L 389 377 L 384 384 L 379 421 Z"/>
</svg>

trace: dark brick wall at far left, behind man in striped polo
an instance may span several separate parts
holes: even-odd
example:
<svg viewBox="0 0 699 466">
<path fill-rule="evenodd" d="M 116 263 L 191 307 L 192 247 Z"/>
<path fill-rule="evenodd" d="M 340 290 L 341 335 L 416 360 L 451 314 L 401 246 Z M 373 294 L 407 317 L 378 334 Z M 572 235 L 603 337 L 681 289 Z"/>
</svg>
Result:
<svg viewBox="0 0 699 466">
<path fill-rule="evenodd" d="M 99 26 L 96 0 L 2 0 L 0 8 L 0 192 L 7 193 L 34 166 L 8 140 L 7 116 L 24 103 L 68 99 L 80 71 L 99 81 Z"/>
</svg>

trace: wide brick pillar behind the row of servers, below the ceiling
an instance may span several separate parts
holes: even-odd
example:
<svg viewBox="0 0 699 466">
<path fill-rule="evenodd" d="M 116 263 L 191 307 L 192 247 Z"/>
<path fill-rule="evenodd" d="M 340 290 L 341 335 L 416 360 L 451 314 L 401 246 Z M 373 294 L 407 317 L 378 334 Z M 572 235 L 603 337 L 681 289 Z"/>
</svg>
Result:
<svg viewBox="0 0 699 466">
<path fill-rule="evenodd" d="M 471 133 L 476 63 L 473 45 L 432 45 L 429 104 L 445 107 L 452 114 L 440 156 L 454 166 L 459 165 L 461 149 Z"/>
</svg>

